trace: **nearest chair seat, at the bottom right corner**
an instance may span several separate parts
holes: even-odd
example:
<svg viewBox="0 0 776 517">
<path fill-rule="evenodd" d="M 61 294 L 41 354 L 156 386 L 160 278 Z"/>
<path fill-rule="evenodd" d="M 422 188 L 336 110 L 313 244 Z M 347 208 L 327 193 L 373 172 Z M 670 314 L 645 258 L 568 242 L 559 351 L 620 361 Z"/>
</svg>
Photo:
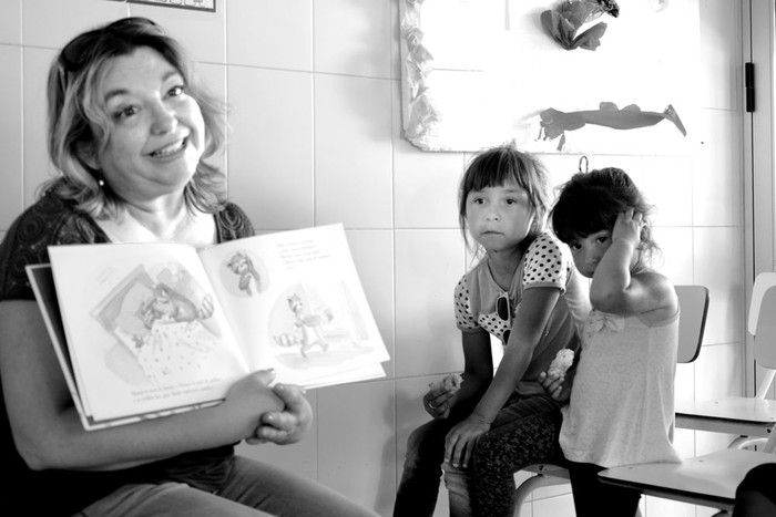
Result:
<svg viewBox="0 0 776 517">
<path fill-rule="evenodd" d="M 646 495 L 701 506 L 732 509 L 735 490 L 757 465 L 776 463 L 773 454 L 726 448 L 682 463 L 650 463 L 609 468 L 604 483 L 637 488 Z"/>
</svg>

